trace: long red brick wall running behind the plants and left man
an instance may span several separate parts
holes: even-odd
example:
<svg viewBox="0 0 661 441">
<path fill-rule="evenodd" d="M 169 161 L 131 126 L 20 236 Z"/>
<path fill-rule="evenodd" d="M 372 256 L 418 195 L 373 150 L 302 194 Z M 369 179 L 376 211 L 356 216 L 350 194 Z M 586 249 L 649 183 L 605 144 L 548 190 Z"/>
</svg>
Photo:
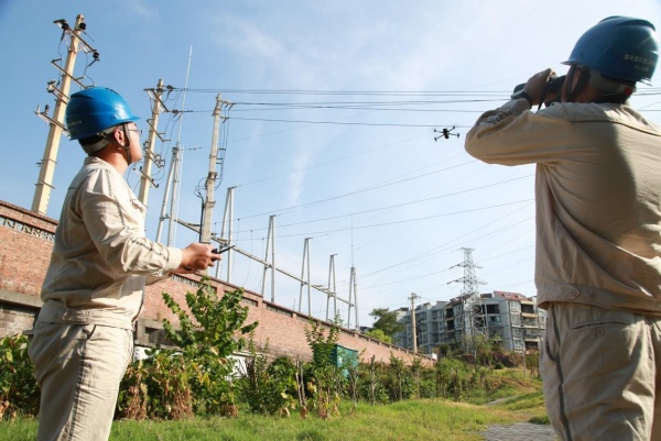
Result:
<svg viewBox="0 0 661 441">
<path fill-rule="evenodd" d="M 19 299 L 24 298 L 20 295 L 34 297 L 31 306 L 23 300 L 13 302 L 15 311 L 13 319 L 9 317 L 12 302 L 7 302 L 7 295 L 0 297 L 0 333 L 3 329 L 17 329 L 31 321 L 29 311 L 30 308 L 35 309 L 35 305 L 39 305 L 37 298 L 48 266 L 53 249 L 52 234 L 55 232 L 56 224 L 57 222 L 53 219 L 0 201 L 0 291 L 18 293 L 17 298 Z M 155 322 L 161 322 L 163 319 L 175 321 L 175 317 L 163 302 L 161 296 L 163 291 L 169 293 L 180 305 L 185 306 L 186 293 L 196 291 L 198 280 L 197 276 L 175 276 L 149 286 L 140 321 L 143 331 L 148 324 L 154 327 Z M 219 293 L 237 288 L 215 279 L 212 283 Z M 260 348 L 268 343 L 269 354 L 273 356 L 286 355 L 302 360 L 312 357 L 304 332 L 305 327 L 308 326 L 306 316 L 264 301 L 260 295 L 254 293 L 246 291 L 243 299 L 245 305 L 249 307 L 247 321 L 257 320 L 259 322 L 254 339 Z M 19 306 L 19 304 L 23 305 Z M 140 332 L 139 342 L 144 342 L 144 339 L 140 339 Z M 380 343 L 349 330 L 340 332 L 338 343 L 357 350 L 365 361 L 375 356 L 377 361 L 388 362 L 391 352 L 405 361 L 412 359 L 410 351 Z"/>
</svg>

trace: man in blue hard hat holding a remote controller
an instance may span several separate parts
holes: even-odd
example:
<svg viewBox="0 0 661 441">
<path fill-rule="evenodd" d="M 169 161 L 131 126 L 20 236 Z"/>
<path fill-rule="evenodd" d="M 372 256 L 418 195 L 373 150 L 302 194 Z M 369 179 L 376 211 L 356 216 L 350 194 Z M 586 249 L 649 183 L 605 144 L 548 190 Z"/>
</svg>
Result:
<svg viewBox="0 0 661 441">
<path fill-rule="evenodd" d="M 88 156 L 67 189 L 29 346 L 41 441 L 108 439 L 145 284 L 220 260 L 208 244 L 182 250 L 144 236 L 145 207 L 122 176 L 142 158 L 136 120 L 102 87 L 73 93 L 66 108 L 71 139 Z"/>
</svg>

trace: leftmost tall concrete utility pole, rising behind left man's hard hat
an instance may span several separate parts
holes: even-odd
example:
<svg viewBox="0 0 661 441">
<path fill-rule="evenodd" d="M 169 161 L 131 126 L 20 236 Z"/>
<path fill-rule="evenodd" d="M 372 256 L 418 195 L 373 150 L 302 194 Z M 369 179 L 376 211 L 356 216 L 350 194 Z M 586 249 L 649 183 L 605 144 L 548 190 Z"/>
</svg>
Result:
<svg viewBox="0 0 661 441">
<path fill-rule="evenodd" d="M 66 20 L 55 20 L 53 23 L 62 29 L 61 40 L 64 40 L 64 37 L 68 35 L 71 41 L 64 67 L 61 67 L 57 64 L 61 59 L 54 59 L 51 62 L 61 71 L 59 81 L 50 81 L 47 88 L 48 92 L 55 96 L 55 109 L 53 110 L 53 117 L 48 117 L 47 106 L 43 112 L 41 112 L 39 108 L 35 112 L 40 118 L 46 120 L 50 125 L 46 147 L 44 150 L 44 157 L 40 163 L 36 190 L 34 192 L 34 199 L 32 200 L 32 211 L 35 211 L 40 214 L 46 214 L 46 210 L 48 209 L 51 190 L 54 188 L 53 175 L 55 174 L 55 165 L 57 164 L 59 141 L 63 133 L 68 134 L 64 125 L 64 112 L 69 99 L 72 80 L 76 81 L 78 85 L 80 85 L 80 87 L 85 87 L 78 81 L 78 79 L 74 77 L 76 56 L 82 47 L 83 51 L 91 52 L 94 54 L 94 60 L 91 63 L 95 63 L 99 59 L 99 53 L 87 42 L 80 38 L 80 33 L 86 29 L 85 18 L 82 14 L 76 16 L 76 24 L 74 25 L 74 29 L 68 25 Z"/>
</svg>

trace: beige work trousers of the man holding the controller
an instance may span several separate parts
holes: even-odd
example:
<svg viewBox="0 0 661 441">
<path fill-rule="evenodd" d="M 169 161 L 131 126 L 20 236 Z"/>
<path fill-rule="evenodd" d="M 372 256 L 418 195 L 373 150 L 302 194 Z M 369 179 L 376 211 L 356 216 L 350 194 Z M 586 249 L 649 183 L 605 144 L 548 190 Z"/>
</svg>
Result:
<svg viewBox="0 0 661 441">
<path fill-rule="evenodd" d="M 41 387 L 37 441 L 108 440 L 132 331 L 37 321 L 28 354 Z"/>
</svg>

